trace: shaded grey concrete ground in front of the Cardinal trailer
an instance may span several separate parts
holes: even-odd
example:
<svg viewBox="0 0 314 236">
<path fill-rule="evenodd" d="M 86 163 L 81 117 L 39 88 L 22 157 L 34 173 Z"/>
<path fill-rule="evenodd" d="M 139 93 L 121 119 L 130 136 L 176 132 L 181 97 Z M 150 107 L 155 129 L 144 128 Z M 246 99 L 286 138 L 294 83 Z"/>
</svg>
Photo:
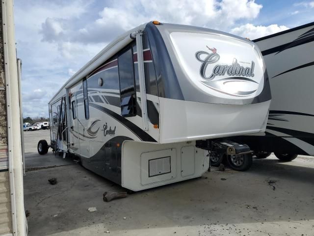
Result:
<svg viewBox="0 0 314 236">
<path fill-rule="evenodd" d="M 57 178 L 56 185 L 49 184 L 51 177 Z M 228 229 L 226 234 L 242 226 L 245 235 L 257 230 L 273 233 L 274 227 L 290 234 L 313 225 L 313 177 L 313 163 L 301 167 L 273 159 L 254 160 L 248 172 L 212 168 L 198 179 L 106 203 L 105 191 L 124 189 L 79 165 L 31 171 L 24 183 L 29 236 L 85 235 L 84 230 L 93 235 L 107 230 L 111 235 L 128 235 L 153 229 L 168 229 L 173 234 L 185 227 L 206 230 L 208 235 L 218 226 Z M 271 185 L 268 180 L 273 180 Z M 97 211 L 89 212 L 88 207 Z"/>
</svg>

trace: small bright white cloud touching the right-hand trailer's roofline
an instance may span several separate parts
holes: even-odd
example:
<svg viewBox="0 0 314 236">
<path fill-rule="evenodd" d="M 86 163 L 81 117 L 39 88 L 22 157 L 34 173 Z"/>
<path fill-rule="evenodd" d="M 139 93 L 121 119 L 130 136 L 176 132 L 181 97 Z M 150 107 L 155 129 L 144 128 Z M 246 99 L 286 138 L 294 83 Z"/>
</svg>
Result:
<svg viewBox="0 0 314 236">
<path fill-rule="evenodd" d="M 252 24 L 245 24 L 240 27 L 231 29 L 230 32 L 241 37 L 250 38 L 252 40 L 269 34 L 277 33 L 286 29 L 289 28 L 286 26 L 278 25 L 254 26 Z"/>
</svg>

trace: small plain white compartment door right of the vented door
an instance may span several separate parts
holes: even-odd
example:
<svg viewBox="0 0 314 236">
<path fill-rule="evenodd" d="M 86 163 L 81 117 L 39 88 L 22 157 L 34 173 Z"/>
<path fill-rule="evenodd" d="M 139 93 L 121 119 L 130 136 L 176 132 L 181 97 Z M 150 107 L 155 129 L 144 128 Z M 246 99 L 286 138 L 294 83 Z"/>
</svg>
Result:
<svg viewBox="0 0 314 236">
<path fill-rule="evenodd" d="M 195 173 L 195 148 L 188 146 L 181 148 L 181 176 L 192 176 Z"/>
</svg>

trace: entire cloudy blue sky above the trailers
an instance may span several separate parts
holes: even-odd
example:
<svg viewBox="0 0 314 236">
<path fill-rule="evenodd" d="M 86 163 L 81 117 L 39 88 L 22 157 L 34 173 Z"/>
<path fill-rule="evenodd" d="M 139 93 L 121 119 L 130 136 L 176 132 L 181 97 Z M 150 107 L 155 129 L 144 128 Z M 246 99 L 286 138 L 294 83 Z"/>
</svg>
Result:
<svg viewBox="0 0 314 236">
<path fill-rule="evenodd" d="M 250 39 L 314 21 L 314 0 L 15 0 L 24 117 L 122 32 L 142 23 L 201 26 Z"/>
</svg>

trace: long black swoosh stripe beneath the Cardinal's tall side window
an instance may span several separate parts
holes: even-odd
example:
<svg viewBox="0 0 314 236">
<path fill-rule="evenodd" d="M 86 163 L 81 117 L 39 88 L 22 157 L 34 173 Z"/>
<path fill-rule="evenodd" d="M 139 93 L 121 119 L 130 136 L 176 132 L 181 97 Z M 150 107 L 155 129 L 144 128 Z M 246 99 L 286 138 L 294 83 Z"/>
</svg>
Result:
<svg viewBox="0 0 314 236">
<path fill-rule="evenodd" d="M 148 133 L 143 131 L 137 125 L 133 124 L 130 120 L 123 118 L 120 115 L 118 115 L 117 113 L 115 113 L 115 112 L 113 112 L 113 111 L 111 111 L 105 107 L 99 106 L 95 103 L 90 103 L 89 105 L 102 111 L 102 112 L 105 112 L 110 117 L 112 117 L 112 118 L 116 119 L 117 121 L 119 121 L 120 123 L 122 123 L 128 129 L 130 129 L 140 140 L 146 141 L 146 142 L 157 142 L 152 136 L 150 136 Z"/>
</svg>

